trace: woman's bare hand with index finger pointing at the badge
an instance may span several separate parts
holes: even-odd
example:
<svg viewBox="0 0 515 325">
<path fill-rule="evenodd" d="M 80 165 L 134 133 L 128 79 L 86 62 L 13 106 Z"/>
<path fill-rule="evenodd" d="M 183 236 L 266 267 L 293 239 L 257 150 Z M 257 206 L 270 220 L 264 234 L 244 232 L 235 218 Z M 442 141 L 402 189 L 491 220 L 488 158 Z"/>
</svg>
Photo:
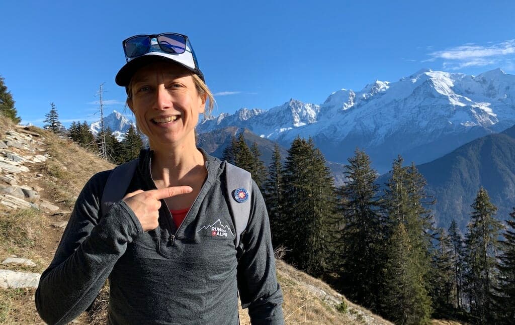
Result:
<svg viewBox="0 0 515 325">
<path fill-rule="evenodd" d="M 124 202 L 132 209 L 143 227 L 143 231 L 156 229 L 159 226 L 159 208 L 162 198 L 186 194 L 193 191 L 190 186 L 171 186 L 158 190 L 137 190 L 127 193 Z"/>
</svg>

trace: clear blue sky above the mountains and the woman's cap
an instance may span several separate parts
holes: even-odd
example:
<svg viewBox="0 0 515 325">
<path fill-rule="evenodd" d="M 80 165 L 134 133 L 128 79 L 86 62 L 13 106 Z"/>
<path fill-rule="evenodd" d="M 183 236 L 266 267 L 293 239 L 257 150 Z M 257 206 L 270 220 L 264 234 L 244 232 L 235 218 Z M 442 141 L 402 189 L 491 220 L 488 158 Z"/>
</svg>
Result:
<svg viewBox="0 0 515 325">
<path fill-rule="evenodd" d="M 187 34 L 213 114 L 270 109 L 290 98 L 322 103 L 340 89 L 397 81 L 421 68 L 515 74 L 513 1 L 3 1 L 0 75 L 23 122 L 42 125 L 50 102 L 60 120 L 124 111 L 114 76 L 122 40 Z"/>
</svg>

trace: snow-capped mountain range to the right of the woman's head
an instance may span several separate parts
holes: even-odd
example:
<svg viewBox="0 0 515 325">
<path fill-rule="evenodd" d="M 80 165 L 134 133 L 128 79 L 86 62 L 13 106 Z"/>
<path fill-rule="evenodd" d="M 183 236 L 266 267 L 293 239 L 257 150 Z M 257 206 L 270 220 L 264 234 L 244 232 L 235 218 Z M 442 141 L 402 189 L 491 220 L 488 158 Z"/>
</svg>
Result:
<svg viewBox="0 0 515 325">
<path fill-rule="evenodd" d="M 253 111 L 245 119 L 240 110 L 205 120 L 198 130 L 231 123 L 285 146 L 298 135 L 311 136 L 328 160 L 345 163 L 359 147 L 384 172 L 398 154 L 421 164 L 511 127 L 515 76 L 501 69 L 478 76 L 423 69 L 397 82 L 375 81 L 361 91 L 340 89 L 320 105 L 291 99 Z"/>
</svg>

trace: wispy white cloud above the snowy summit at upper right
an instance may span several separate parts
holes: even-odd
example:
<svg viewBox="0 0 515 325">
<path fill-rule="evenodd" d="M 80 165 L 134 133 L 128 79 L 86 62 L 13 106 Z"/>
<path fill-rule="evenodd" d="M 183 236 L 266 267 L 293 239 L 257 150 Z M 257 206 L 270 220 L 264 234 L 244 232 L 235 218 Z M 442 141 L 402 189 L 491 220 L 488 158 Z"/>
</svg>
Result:
<svg viewBox="0 0 515 325">
<path fill-rule="evenodd" d="M 515 40 L 500 43 L 489 42 L 487 46 L 467 43 L 441 51 L 428 53 L 430 59 L 422 62 L 443 60 L 443 68 L 458 70 L 472 66 L 501 64 L 515 58 Z"/>
</svg>

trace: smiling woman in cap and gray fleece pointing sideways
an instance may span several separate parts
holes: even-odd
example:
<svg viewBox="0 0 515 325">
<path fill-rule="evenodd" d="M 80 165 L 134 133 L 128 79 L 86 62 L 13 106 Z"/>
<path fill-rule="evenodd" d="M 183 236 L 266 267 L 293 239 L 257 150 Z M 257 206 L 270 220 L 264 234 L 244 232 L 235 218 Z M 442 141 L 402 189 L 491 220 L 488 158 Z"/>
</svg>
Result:
<svg viewBox="0 0 515 325">
<path fill-rule="evenodd" d="M 123 42 L 125 86 L 148 136 L 123 200 L 104 214 L 111 171 L 80 193 L 36 306 L 64 324 L 88 308 L 109 277 L 110 324 L 236 324 L 238 291 L 253 324 L 281 324 L 266 207 L 252 182 L 245 252 L 236 257 L 226 163 L 196 148 L 195 125 L 213 97 L 185 35 L 136 35 Z M 211 232 L 215 226 L 219 232 Z M 220 236 L 218 236 L 218 234 Z M 216 235 L 216 236 L 215 236 Z"/>
</svg>

